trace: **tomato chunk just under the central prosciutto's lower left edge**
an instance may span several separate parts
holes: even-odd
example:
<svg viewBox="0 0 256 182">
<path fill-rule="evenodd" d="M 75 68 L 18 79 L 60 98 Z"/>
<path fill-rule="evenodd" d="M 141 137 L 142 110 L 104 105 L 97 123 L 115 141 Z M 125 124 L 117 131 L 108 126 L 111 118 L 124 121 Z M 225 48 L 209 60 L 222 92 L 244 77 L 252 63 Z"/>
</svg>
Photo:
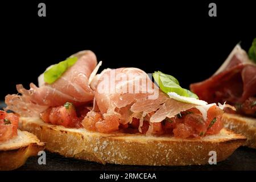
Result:
<svg viewBox="0 0 256 182">
<path fill-rule="evenodd" d="M 97 131 L 101 133 L 111 133 L 118 130 L 119 118 L 115 115 L 109 115 L 105 117 L 103 121 L 98 121 L 95 123 Z"/>
</svg>

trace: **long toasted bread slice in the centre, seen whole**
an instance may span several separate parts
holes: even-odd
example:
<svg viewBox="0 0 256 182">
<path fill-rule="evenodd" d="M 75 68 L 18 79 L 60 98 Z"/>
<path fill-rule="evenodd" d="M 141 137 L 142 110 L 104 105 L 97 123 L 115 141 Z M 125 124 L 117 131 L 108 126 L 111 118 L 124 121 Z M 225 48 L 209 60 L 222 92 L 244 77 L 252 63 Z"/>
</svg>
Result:
<svg viewBox="0 0 256 182">
<path fill-rule="evenodd" d="M 68 129 L 44 123 L 39 118 L 20 118 L 19 127 L 46 142 L 46 149 L 66 157 L 98 163 L 150 166 L 207 164 L 209 152 L 217 161 L 230 156 L 245 142 L 240 134 L 223 129 L 220 134 L 202 139 L 154 137 L 142 134 L 102 134 L 85 129 Z"/>
</svg>

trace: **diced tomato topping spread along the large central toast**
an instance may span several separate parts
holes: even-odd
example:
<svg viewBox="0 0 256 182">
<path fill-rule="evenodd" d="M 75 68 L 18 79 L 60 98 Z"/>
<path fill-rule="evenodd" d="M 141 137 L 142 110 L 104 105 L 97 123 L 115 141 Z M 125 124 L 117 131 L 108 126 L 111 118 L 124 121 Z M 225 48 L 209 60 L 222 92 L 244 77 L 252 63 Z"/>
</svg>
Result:
<svg viewBox="0 0 256 182">
<path fill-rule="evenodd" d="M 46 111 L 46 113 L 48 112 Z M 212 106 L 208 109 L 207 121 L 204 121 L 201 112 L 196 108 L 192 108 L 182 111 L 175 117 L 166 118 L 162 122 L 151 123 L 152 130 L 150 132 L 154 135 L 171 134 L 179 138 L 203 137 L 205 135 L 217 134 L 223 127 L 221 121 L 222 113 L 223 111 L 219 107 Z M 150 113 L 149 116 L 152 114 L 154 113 Z M 71 107 L 71 110 L 68 111 L 64 107 L 52 108 L 49 114 L 49 121 L 59 123 L 59 120 L 56 119 L 59 117 L 61 118 L 60 125 L 70 126 L 70 123 L 74 121 L 72 118 L 76 118 L 75 108 Z M 45 120 L 48 121 L 47 116 L 42 115 L 42 118 L 46 118 Z M 143 134 L 147 133 L 150 126 L 147 120 L 143 121 L 141 127 Z M 124 133 L 138 133 L 140 131 L 139 124 L 140 120 L 138 118 L 133 118 L 131 123 L 123 124 L 116 115 L 108 115 L 103 118 L 100 113 L 95 111 L 86 113 L 86 117 L 82 120 L 82 126 L 85 129 L 101 133 L 111 133 L 117 130 L 122 130 Z"/>
</svg>

